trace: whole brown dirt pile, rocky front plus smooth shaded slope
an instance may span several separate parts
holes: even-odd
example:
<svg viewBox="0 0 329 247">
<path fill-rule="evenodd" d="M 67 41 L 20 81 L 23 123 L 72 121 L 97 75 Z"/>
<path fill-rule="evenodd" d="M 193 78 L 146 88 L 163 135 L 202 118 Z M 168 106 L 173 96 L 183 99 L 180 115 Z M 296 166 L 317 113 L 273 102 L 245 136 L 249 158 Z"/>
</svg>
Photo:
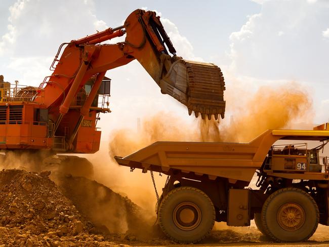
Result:
<svg viewBox="0 0 329 247">
<path fill-rule="evenodd" d="M 118 246 L 152 232 L 129 198 L 87 178 L 63 177 L 57 186 L 49 176 L 0 171 L 0 247 Z"/>
</svg>

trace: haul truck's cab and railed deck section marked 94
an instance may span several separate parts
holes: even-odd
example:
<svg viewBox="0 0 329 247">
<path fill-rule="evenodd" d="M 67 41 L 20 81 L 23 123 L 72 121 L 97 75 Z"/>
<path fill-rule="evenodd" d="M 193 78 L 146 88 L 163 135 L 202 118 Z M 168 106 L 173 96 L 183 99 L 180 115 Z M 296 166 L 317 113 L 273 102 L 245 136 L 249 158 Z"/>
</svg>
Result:
<svg viewBox="0 0 329 247">
<path fill-rule="evenodd" d="M 322 172 L 319 149 L 307 149 L 307 143 L 273 145 L 264 162 L 264 171 L 280 173 Z"/>
</svg>

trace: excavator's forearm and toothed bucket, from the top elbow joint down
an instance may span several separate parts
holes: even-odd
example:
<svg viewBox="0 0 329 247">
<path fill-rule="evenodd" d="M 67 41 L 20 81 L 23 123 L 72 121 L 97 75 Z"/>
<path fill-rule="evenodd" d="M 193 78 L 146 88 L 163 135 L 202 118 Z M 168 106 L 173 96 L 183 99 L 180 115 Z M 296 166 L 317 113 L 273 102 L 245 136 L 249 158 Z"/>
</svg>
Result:
<svg viewBox="0 0 329 247">
<path fill-rule="evenodd" d="M 202 118 L 208 115 L 210 119 L 215 115 L 217 119 L 219 114 L 224 118 L 225 83 L 219 67 L 176 56 L 176 50 L 155 12 L 134 11 L 127 18 L 125 29 L 126 44 L 129 48 L 137 48 L 133 56 L 151 75 L 161 93 L 186 105 L 189 114 L 194 111 L 196 117 L 201 113 Z M 152 50 L 153 54 L 149 56 Z"/>
</svg>

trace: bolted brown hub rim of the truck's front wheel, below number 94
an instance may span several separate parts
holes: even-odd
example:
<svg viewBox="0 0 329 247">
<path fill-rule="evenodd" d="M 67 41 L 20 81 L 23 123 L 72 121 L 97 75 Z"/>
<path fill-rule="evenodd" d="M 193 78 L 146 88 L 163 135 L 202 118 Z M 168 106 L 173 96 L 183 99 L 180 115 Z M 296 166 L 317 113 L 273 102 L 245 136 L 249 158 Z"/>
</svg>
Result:
<svg viewBox="0 0 329 247">
<path fill-rule="evenodd" d="M 285 203 L 278 210 L 276 219 L 284 230 L 296 231 L 305 223 L 305 211 L 297 203 Z"/>
</svg>

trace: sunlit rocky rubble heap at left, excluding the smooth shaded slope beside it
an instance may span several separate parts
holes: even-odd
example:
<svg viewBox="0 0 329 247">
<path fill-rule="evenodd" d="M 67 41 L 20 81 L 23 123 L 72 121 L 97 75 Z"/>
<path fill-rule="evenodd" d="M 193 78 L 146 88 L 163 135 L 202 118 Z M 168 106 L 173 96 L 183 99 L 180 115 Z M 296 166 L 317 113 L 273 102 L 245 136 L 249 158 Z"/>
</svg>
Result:
<svg viewBox="0 0 329 247">
<path fill-rule="evenodd" d="M 0 244 L 56 246 L 83 238 L 93 227 L 49 175 L 15 169 L 0 172 Z M 94 235 L 83 242 L 88 241 L 94 242 Z"/>
</svg>

